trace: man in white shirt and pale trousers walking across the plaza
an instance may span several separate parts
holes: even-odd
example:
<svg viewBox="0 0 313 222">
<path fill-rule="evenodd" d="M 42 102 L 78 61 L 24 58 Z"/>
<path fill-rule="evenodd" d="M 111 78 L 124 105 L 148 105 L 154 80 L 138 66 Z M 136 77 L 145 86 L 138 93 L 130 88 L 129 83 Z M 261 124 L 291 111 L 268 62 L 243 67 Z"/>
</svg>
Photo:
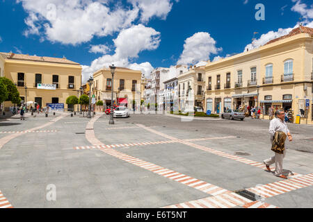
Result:
<svg viewBox="0 0 313 222">
<path fill-rule="evenodd" d="M 278 110 L 275 112 L 275 119 L 273 119 L 270 123 L 270 127 L 268 132 L 271 135 L 271 142 L 273 143 L 273 137 L 275 136 L 276 131 L 281 131 L 288 136 L 289 142 L 292 141 L 291 134 L 287 127 L 287 124 L 284 121 L 284 110 Z M 264 164 L 268 171 L 271 171 L 271 164 L 275 162 L 275 176 L 280 178 L 287 179 L 287 176 L 282 175 L 282 161 L 286 155 L 287 148 L 284 148 L 283 153 L 275 153 L 275 155 L 267 160 L 264 160 Z"/>
</svg>

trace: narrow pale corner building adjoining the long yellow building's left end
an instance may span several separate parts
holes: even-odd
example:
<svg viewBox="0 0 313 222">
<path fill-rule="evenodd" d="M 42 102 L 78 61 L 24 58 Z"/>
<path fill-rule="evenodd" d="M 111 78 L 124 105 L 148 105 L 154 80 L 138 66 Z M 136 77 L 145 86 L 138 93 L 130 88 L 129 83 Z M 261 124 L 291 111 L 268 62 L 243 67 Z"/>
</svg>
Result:
<svg viewBox="0 0 313 222">
<path fill-rule="evenodd" d="M 193 106 L 204 107 L 204 75 L 204 67 L 195 66 L 179 74 L 179 110 L 193 110 Z M 191 95 L 189 95 L 189 93 Z M 188 106 L 188 108 L 186 106 Z"/>
</svg>

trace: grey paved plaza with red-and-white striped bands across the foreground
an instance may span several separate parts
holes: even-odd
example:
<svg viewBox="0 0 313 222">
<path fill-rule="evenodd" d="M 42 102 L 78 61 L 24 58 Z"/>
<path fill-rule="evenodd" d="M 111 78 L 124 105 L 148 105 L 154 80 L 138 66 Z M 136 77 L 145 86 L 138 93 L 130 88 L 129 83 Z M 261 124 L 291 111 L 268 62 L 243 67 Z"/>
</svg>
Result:
<svg viewBox="0 0 313 222">
<path fill-rule="evenodd" d="M 264 119 L 131 114 L 109 125 L 101 113 L 18 117 L 0 119 L 0 207 L 313 205 L 312 126 L 288 124 L 284 180 L 265 171 L 273 152 Z"/>
</svg>

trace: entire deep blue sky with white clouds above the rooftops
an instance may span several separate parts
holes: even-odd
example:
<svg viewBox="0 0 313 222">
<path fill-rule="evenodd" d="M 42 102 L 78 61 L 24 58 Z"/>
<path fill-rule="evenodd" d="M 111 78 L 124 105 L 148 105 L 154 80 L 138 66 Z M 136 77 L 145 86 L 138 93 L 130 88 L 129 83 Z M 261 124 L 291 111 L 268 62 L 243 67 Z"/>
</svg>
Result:
<svg viewBox="0 0 313 222">
<path fill-rule="evenodd" d="M 263 3 L 265 20 L 255 19 Z M 115 65 L 141 69 L 217 60 L 313 27 L 306 0 L 0 0 L 0 51 L 63 57 L 83 76 Z"/>
</svg>

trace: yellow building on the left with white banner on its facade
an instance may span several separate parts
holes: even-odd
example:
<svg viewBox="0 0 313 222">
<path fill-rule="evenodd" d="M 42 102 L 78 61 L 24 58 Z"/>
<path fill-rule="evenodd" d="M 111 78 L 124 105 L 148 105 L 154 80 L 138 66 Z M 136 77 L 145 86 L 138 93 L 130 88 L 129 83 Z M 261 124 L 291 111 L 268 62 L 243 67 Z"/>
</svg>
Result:
<svg viewBox="0 0 313 222">
<path fill-rule="evenodd" d="M 81 65 L 66 58 L 0 53 L 4 58 L 4 76 L 17 85 L 22 102 L 65 103 L 68 96 L 78 96 L 81 87 Z M 13 105 L 5 102 L 6 110 Z M 28 106 L 34 103 L 28 103 Z"/>
</svg>

